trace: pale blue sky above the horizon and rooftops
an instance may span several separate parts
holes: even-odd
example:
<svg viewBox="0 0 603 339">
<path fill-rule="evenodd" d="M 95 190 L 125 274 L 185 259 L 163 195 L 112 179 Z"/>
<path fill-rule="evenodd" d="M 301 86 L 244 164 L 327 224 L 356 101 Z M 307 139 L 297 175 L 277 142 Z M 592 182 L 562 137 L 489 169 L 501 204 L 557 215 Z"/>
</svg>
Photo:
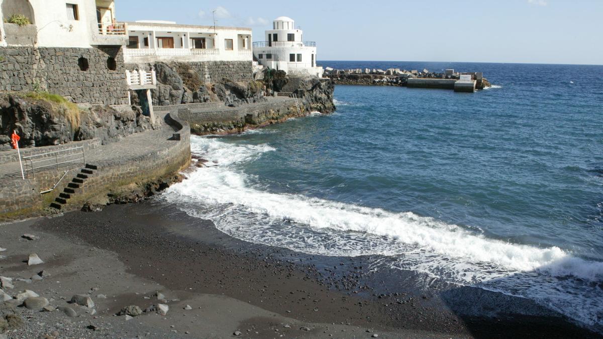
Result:
<svg viewBox="0 0 603 339">
<path fill-rule="evenodd" d="M 603 65 L 603 0 L 118 0 L 119 21 L 250 27 L 279 16 L 318 60 Z"/>
</svg>

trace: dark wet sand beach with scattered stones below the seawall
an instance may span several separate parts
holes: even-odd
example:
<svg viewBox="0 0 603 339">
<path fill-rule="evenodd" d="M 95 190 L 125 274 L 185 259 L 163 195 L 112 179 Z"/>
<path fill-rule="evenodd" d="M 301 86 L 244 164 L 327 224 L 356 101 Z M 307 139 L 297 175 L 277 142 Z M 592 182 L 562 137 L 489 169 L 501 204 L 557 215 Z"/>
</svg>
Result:
<svg viewBox="0 0 603 339">
<path fill-rule="evenodd" d="M 26 232 L 40 240 L 19 239 Z M 86 337 L 233 337 L 235 331 L 256 338 L 598 337 L 529 300 L 438 282 L 420 289 L 417 274 L 375 273 L 366 266 L 370 258 L 309 256 L 239 241 L 161 198 L 0 226 L 0 235 L 11 239 L 0 240 L 5 253 L 21 252 L 0 261 L 2 275 L 31 275 L 19 260 L 31 251 L 46 261 L 38 271 L 48 265 L 59 272 L 15 290 L 37 288 L 69 299 L 96 287 L 93 294 L 111 296 L 93 296 L 98 314 L 75 318 Z M 11 249 L 13 241 L 19 247 Z M 169 299 L 165 317 L 113 317 L 124 306 L 146 308 L 158 290 Z M 106 329 L 86 330 L 90 322 Z"/>
</svg>

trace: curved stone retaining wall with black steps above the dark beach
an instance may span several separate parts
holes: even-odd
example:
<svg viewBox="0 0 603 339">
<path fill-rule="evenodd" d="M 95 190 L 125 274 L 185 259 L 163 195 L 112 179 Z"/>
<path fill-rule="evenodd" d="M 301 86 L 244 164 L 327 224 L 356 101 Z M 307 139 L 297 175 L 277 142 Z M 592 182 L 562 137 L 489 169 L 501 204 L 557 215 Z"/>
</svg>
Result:
<svg viewBox="0 0 603 339">
<path fill-rule="evenodd" d="M 142 184 L 152 182 L 163 176 L 178 173 L 189 166 L 191 162 L 191 130 L 189 125 L 178 118 L 177 113 L 169 113 L 169 121 L 175 127 L 174 131 L 180 133 L 180 140 L 162 141 L 162 146 L 157 150 L 140 153 L 136 157 L 114 157 L 103 161 L 87 161 L 98 166 L 94 174 L 88 177 L 75 194 L 69 199 L 65 209 L 79 209 L 83 204 L 95 197 L 106 197 L 109 192 L 133 183 Z M 182 126 L 180 130 L 177 130 Z M 177 130 L 177 131 L 176 131 Z M 42 152 L 46 147 L 39 147 Z M 52 147 L 49 147 L 52 148 Z M 95 151 L 102 151 L 102 147 Z M 48 170 L 36 173 L 36 179 L 2 178 L 0 179 L 0 221 L 10 221 L 17 218 L 42 215 L 58 194 L 71 182 L 71 179 L 80 172 L 83 164 L 75 164 L 58 170 Z M 69 170 L 65 179 L 60 182 L 54 191 L 40 194 L 41 191 L 51 188 L 61 176 Z"/>
</svg>

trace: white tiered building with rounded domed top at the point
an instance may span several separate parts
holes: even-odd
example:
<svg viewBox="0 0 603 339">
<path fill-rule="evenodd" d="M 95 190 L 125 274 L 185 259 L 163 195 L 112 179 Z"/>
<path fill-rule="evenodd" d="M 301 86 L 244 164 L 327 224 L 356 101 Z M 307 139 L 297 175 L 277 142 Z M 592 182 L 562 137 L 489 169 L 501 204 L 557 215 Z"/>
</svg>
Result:
<svg viewBox="0 0 603 339">
<path fill-rule="evenodd" d="M 303 32 L 295 29 L 293 19 L 277 17 L 272 28 L 264 41 L 253 43 L 253 57 L 260 65 L 287 74 L 322 77 L 323 68 L 316 66 L 316 43 L 303 41 Z"/>
</svg>

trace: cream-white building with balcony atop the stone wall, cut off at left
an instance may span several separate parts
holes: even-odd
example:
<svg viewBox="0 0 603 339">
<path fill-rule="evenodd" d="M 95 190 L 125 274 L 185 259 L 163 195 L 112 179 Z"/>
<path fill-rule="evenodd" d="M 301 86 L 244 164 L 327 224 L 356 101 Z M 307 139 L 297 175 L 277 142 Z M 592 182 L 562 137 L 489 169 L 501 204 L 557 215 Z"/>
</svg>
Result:
<svg viewBox="0 0 603 339">
<path fill-rule="evenodd" d="M 90 48 L 127 43 L 123 24 L 115 22 L 113 0 L 0 0 L 0 46 Z M 31 25 L 8 24 L 21 14 Z"/>
</svg>

